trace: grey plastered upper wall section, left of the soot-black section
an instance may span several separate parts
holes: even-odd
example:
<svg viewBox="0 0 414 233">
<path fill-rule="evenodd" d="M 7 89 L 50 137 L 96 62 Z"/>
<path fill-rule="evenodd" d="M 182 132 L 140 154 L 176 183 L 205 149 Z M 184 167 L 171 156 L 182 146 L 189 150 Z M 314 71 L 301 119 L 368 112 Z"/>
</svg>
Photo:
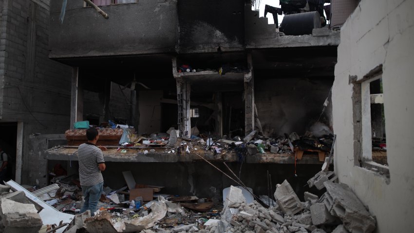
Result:
<svg viewBox="0 0 414 233">
<path fill-rule="evenodd" d="M 109 19 L 83 1 L 68 1 L 63 23 L 61 6 L 51 1 L 51 58 L 175 52 L 176 0 L 101 6 Z"/>
</svg>

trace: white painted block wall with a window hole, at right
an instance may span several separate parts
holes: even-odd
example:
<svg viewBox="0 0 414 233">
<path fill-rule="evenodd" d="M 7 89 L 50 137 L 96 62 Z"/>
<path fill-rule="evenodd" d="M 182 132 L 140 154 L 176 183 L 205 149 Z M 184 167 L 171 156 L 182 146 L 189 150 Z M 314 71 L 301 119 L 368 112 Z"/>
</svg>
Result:
<svg viewBox="0 0 414 233">
<path fill-rule="evenodd" d="M 333 87 L 335 172 L 376 216 L 378 233 L 414 229 L 414 1 L 362 0 L 341 29 Z M 383 64 L 390 183 L 354 166 L 352 84 Z"/>
</svg>

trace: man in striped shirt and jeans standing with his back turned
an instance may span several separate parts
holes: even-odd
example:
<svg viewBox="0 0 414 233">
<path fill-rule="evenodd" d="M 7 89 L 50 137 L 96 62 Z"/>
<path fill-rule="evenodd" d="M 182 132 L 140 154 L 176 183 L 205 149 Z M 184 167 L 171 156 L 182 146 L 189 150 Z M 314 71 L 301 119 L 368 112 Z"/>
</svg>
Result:
<svg viewBox="0 0 414 233">
<path fill-rule="evenodd" d="M 99 138 L 96 128 L 86 130 L 86 137 L 88 142 L 80 145 L 77 152 L 80 185 L 85 198 L 80 213 L 90 210 L 91 215 L 94 216 L 102 194 L 103 177 L 101 171 L 105 171 L 106 168 L 102 150 L 106 151 L 106 147 L 96 146 Z"/>
</svg>

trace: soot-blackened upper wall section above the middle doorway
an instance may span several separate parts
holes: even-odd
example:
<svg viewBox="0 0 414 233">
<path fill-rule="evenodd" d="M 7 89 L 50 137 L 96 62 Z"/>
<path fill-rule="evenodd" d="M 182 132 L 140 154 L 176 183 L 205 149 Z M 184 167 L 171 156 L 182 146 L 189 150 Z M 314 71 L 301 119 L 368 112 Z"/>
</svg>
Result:
<svg viewBox="0 0 414 233">
<path fill-rule="evenodd" d="M 240 0 L 179 0 L 180 52 L 243 50 L 244 7 Z"/>
</svg>

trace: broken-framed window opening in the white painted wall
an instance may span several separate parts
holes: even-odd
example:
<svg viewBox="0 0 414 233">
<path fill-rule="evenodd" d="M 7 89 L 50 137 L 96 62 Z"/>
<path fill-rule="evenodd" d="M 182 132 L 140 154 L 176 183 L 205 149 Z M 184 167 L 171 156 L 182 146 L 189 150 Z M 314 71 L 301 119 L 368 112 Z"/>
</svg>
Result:
<svg viewBox="0 0 414 233">
<path fill-rule="evenodd" d="M 382 66 L 376 67 L 361 80 L 350 78 L 353 82 L 355 165 L 389 177 Z"/>
</svg>

